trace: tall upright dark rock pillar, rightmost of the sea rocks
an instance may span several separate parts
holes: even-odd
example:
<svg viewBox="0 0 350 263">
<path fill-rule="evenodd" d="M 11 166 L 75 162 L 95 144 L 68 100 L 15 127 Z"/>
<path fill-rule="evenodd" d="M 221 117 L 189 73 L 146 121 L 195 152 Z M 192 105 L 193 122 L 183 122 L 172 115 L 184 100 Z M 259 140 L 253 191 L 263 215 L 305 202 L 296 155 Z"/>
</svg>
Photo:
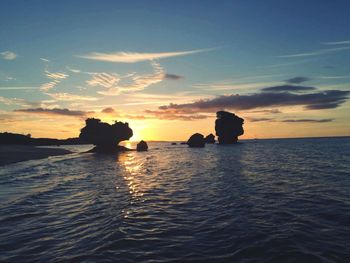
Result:
<svg viewBox="0 0 350 263">
<path fill-rule="evenodd" d="M 232 144 L 238 141 L 238 136 L 244 133 L 244 119 L 227 111 L 216 113 L 215 131 L 220 144 Z"/>
</svg>

